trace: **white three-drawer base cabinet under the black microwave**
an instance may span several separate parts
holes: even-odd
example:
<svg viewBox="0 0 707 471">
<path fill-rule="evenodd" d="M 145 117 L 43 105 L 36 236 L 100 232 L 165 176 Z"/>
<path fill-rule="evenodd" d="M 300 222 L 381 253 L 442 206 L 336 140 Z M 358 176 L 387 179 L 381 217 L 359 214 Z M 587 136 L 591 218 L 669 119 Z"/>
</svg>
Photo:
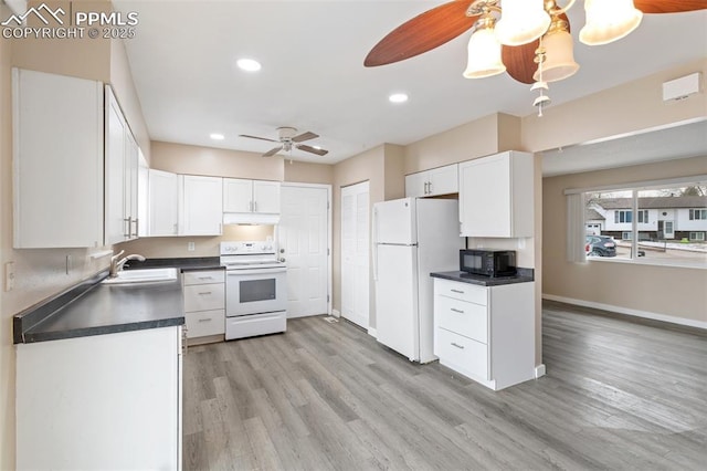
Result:
<svg viewBox="0 0 707 471">
<path fill-rule="evenodd" d="M 535 378 L 535 283 L 434 279 L 434 354 L 494 390 Z"/>
</svg>

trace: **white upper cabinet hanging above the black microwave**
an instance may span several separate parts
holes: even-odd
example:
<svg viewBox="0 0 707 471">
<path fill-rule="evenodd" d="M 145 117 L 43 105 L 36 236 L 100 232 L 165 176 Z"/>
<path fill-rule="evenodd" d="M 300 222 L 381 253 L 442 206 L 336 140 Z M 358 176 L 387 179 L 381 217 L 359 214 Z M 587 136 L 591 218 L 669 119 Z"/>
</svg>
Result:
<svg viewBox="0 0 707 471">
<path fill-rule="evenodd" d="M 507 151 L 460 164 L 460 234 L 534 236 L 534 157 Z"/>
</svg>

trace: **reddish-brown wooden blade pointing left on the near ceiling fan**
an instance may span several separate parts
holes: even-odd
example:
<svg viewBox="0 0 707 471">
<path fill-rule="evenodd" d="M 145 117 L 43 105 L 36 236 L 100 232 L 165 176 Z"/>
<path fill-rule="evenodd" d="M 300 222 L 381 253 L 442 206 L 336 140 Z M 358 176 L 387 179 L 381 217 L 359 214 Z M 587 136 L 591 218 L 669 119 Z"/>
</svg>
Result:
<svg viewBox="0 0 707 471">
<path fill-rule="evenodd" d="M 478 17 L 466 15 L 469 4 L 469 0 L 451 1 L 401 24 L 371 49 L 363 65 L 404 61 L 453 40 L 471 29 Z"/>
</svg>

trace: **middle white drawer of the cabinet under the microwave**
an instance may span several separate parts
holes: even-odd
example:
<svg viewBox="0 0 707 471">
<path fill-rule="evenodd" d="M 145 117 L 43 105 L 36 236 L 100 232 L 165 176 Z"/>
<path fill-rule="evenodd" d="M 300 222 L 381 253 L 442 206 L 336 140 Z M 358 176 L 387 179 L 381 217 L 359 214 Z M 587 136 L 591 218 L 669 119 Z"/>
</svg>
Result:
<svg viewBox="0 0 707 471">
<path fill-rule="evenodd" d="M 483 344 L 488 343 L 487 307 L 446 296 L 434 299 L 437 326 Z"/>
</svg>

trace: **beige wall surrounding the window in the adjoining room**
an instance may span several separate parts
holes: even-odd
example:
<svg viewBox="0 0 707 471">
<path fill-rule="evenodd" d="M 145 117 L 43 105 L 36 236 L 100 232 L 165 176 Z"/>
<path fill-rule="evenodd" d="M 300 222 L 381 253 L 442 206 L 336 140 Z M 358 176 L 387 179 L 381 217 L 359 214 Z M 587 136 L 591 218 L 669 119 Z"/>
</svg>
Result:
<svg viewBox="0 0 707 471">
<path fill-rule="evenodd" d="M 707 157 L 546 178 L 544 182 L 544 293 L 624 311 L 707 323 L 707 270 L 620 262 L 566 261 L 568 188 L 707 174 Z"/>
</svg>

